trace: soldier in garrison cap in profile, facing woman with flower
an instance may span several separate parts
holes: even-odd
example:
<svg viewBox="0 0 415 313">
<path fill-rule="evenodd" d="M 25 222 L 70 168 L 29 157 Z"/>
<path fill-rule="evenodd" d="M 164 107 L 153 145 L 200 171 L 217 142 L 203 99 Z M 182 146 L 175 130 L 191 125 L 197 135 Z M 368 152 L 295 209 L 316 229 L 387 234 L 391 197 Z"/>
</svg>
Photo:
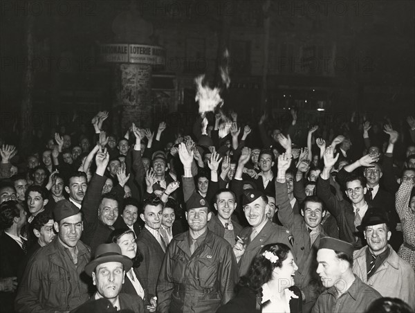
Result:
<svg viewBox="0 0 415 313">
<path fill-rule="evenodd" d="M 335 238 L 320 240 L 317 274 L 327 289 L 317 298 L 313 313 L 366 311 L 380 294 L 353 274 L 353 245 Z"/>
</svg>

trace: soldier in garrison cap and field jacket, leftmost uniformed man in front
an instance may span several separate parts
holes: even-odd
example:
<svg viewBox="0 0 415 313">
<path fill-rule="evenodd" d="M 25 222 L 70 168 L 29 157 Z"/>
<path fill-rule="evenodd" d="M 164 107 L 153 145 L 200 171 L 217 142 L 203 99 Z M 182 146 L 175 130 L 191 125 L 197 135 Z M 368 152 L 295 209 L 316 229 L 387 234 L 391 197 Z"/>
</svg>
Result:
<svg viewBox="0 0 415 313">
<path fill-rule="evenodd" d="M 91 259 L 89 248 L 80 240 L 82 215 L 68 200 L 57 202 L 54 215 L 57 236 L 28 262 L 15 301 L 17 312 L 68 312 L 89 298 L 88 284 L 81 279 Z"/>
</svg>

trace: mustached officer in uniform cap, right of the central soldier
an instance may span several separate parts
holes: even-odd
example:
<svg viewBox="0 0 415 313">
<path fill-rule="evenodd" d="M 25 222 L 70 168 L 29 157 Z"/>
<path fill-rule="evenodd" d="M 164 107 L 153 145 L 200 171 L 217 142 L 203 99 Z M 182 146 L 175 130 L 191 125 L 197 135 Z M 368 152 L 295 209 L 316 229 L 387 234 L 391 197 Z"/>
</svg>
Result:
<svg viewBox="0 0 415 313">
<path fill-rule="evenodd" d="M 288 229 L 268 220 L 266 213 L 269 205 L 264 193 L 255 189 L 245 190 L 242 204 L 250 226 L 241 231 L 241 240 L 237 241 L 233 249 L 239 260 L 239 276 L 246 274 L 252 259 L 265 244 L 282 242 L 292 247 L 290 239 L 293 238 Z"/>
</svg>

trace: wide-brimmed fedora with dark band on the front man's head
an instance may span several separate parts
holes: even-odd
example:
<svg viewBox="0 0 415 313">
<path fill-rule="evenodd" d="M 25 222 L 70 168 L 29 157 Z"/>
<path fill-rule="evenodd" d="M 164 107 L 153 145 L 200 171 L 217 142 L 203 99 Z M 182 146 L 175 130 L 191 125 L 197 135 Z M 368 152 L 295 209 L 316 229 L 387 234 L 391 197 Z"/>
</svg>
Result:
<svg viewBox="0 0 415 313">
<path fill-rule="evenodd" d="M 85 272 L 92 276 L 95 267 L 102 263 L 120 262 L 124 265 L 124 271 L 129 271 L 133 266 L 133 261 L 127 256 L 122 256 L 121 248 L 118 244 L 100 244 L 95 251 L 95 258 L 85 266 Z"/>
</svg>

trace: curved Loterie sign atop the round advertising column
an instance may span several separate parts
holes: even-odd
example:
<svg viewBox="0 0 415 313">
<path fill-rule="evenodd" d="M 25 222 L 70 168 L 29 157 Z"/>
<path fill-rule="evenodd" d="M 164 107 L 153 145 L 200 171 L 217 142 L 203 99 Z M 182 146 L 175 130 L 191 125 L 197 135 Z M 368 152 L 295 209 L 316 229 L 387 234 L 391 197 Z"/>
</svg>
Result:
<svg viewBox="0 0 415 313">
<path fill-rule="evenodd" d="M 100 60 L 110 63 L 165 64 L 166 49 L 148 44 L 100 44 Z"/>
</svg>

